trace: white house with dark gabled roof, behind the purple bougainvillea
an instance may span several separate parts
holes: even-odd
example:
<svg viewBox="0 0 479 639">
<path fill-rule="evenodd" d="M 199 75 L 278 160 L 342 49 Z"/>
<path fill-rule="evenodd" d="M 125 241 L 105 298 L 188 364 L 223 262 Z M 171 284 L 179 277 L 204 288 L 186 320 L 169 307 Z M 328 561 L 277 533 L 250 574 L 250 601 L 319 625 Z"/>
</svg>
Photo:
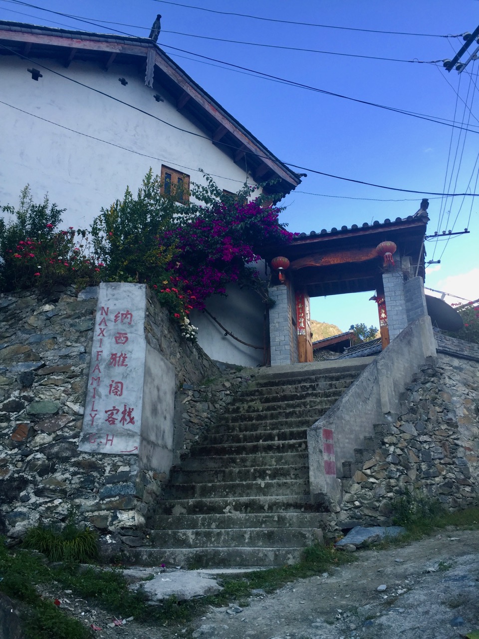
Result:
<svg viewBox="0 0 479 639">
<path fill-rule="evenodd" d="M 66 226 L 88 227 L 102 206 L 136 192 L 154 173 L 221 189 L 277 179 L 287 194 L 300 176 L 198 86 L 148 38 L 0 21 L 0 204 L 29 183 L 36 201 L 67 208 Z M 262 345 L 262 307 L 250 296 L 212 300 L 212 313 L 243 341 Z M 232 312 L 229 311 L 232 309 Z M 210 357 L 257 364 L 262 351 L 224 336 L 202 315 Z"/>
</svg>

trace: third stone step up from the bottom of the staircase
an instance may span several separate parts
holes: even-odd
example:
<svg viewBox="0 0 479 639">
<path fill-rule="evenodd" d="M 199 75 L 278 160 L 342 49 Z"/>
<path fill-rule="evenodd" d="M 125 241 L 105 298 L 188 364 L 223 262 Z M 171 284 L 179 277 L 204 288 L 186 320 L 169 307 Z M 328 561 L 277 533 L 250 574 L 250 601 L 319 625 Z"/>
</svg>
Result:
<svg viewBox="0 0 479 639">
<path fill-rule="evenodd" d="M 152 530 L 204 530 L 208 528 L 321 528 L 328 512 L 232 512 L 230 514 L 155 515 Z"/>
</svg>

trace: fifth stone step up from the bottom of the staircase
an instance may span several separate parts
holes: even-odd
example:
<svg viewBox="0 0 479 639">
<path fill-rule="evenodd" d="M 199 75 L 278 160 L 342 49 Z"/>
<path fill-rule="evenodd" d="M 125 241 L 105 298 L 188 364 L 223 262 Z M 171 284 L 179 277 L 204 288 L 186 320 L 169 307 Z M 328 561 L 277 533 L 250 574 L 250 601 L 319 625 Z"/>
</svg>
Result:
<svg viewBox="0 0 479 639">
<path fill-rule="evenodd" d="M 167 484 L 163 489 L 165 500 L 220 499 L 235 497 L 283 497 L 309 495 L 308 479 L 273 479 L 245 482 L 202 484 Z"/>
</svg>

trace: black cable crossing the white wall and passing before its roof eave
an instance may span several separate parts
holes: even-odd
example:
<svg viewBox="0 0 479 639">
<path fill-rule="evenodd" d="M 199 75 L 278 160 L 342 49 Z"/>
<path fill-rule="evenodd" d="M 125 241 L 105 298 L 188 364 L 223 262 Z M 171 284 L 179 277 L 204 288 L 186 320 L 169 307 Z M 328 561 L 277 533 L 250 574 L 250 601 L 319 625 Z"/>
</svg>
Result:
<svg viewBox="0 0 479 639">
<path fill-rule="evenodd" d="M 0 47 L 2 49 L 8 50 L 10 51 L 12 54 L 14 54 L 15 56 L 18 56 L 19 58 L 22 58 L 24 60 L 27 60 L 31 63 L 36 64 L 37 66 L 40 66 L 41 68 L 49 71 L 50 73 L 54 73 L 54 75 L 58 75 L 59 77 L 68 80 L 70 82 L 73 82 L 74 84 L 78 84 L 79 86 L 82 86 L 86 89 L 89 89 L 91 91 L 95 91 L 95 93 L 99 93 L 100 95 L 103 95 L 107 98 L 110 98 L 110 100 L 114 100 L 115 102 L 118 102 L 119 104 L 123 104 L 126 107 L 130 107 L 130 109 L 134 109 L 135 111 L 138 111 L 146 116 L 149 116 L 150 118 L 153 118 L 159 122 L 161 122 L 162 124 L 167 125 L 168 127 L 174 128 L 178 131 L 181 131 L 183 133 L 187 133 L 190 135 L 194 135 L 195 137 L 199 137 L 201 139 L 204 140 L 208 140 L 208 142 L 211 142 L 211 138 L 207 137 L 206 135 L 202 135 L 199 133 L 195 133 L 194 131 L 189 131 L 188 129 L 182 128 L 182 127 L 178 127 L 174 124 L 172 124 L 171 122 L 168 122 L 166 120 L 163 120 L 162 118 L 158 118 L 158 116 L 153 115 L 152 113 L 149 113 L 148 111 L 144 111 L 144 109 L 140 109 L 139 107 L 135 107 L 135 105 L 129 104 L 128 102 L 124 102 L 123 100 L 120 100 L 119 98 L 116 98 L 112 95 L 110 95 L 109 93 L 105 93 L 105 91 L 100 91 L 100 89 L 96 89 L 95 87 L 89 86 L 88 84 L 84 84 L 83 82 L 80 82 L 78 80 L 75 80 L 71 77 L 68 77 L 68 75 L 63 75 L 63 73 L 59 73 L 58 71 L 54 71 L 53 69 L 49 68 L 48 66 L 42 65 L 40 64 L 38 61 L 34 61 L 31 58 L 27 58 L 27 56 L 24 56 L 23 54 L 20 54 L 18 52 L 16 52 L 13 49 L 10 49 L 10 47 L 6 47 L 5 45 L 0 43 Z M 476 132 L 474 132 L 476 133 Z M 230 148 L 234 148 L 236 149 L 236 146 L 232 145 L 232 144 L 227 144 L 227 143 L 222 143 L 222 146 L 229 146 Z M 254 151 L 245 151 L 246 154 L 248 155 L 253 155 L 254 157 L 257 157 L 259 159 L 262 160 L 271 160 L 270 157 L 265 156 L 265 155 L 259 155 L 257 153 L 254 153 Z M 276 158 L 278 159 L 278 158 Z M 399 191 L 399 192 L 403 192 L 403 193 L 415 193 L 418 195 L 431 195 L 431 196 L 445 196 L 448 195 L 449 197 L 458 197 L 458 196 L 479 196 L 478 193 L 455 193 L 455 194 L 444 194 L 444 193 L 437 193 L 434 191 L 427 191 L 427 190 L 413 190 L 413 189 L 399 189 L 396 187 L 386 187 L 384 185 L 379 185 L 379 184 L 374 184 L 372 182 L 366 182 L 363 180 L 354 180 L 353 178 L 344 178 L 342 176 L 338 176 L 338 175 L 334 175 L 331 173 L 324 173 L 323 171 L 318 171 L 317 169 L 311 169 L 308 167 L 303 167 L 300 166 L 298 164 L 293 164 L 292 162 L 285 162 L 283 160 L 278 160 L 278 162 L 282 162 L 282 164 L 284 164 L 285 166 L 290 166 L 290 167 L 294 167 L 295 169 L 300 169 L 301 171 L 308 171 L 309 173 L 316 173 L 317 175 L 323 175 L 326 176 L 328 178 L 334 178 L 335 180 L 343 180 L 343 181 L 348 181 L 348 182 L 353 182 L 356 184 L 363 184 L 365 186 L 370 186 L 370 187 L 375 187 L 376 189 L 386 189 L 386 190 L 392 190 L 392 191 Z"/>
</svg>

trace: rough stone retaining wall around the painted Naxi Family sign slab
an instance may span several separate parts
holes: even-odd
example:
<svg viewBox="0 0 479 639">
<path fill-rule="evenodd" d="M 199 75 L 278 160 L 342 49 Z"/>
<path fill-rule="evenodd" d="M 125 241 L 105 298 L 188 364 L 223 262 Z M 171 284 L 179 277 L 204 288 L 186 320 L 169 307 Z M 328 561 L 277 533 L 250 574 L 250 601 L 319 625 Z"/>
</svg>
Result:
<svg viewBox="0 0 479 639">
<path fill-rule="evenodd" d="M 222 374 L 155 297 L 147 306 L 146 339 L 176 370 L 176 442 L 186 454 L 246 378 Z M 84 523 L 141 543 L 138 528 L 165 474 L 139 468 L 137 456 L 77 449 L 95 312 L 95 289 L 0 295 L 2 534 L 17 538 L 39 521 L 61 522 L 73 505 Z"/>
</svg>

